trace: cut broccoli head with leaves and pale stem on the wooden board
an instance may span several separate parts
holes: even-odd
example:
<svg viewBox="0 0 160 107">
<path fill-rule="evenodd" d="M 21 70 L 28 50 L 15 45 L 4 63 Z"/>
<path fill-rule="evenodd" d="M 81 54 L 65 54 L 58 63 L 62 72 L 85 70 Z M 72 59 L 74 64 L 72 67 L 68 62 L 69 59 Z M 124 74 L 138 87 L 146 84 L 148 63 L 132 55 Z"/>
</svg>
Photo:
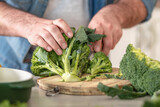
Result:
<svg viewBox="0 0 160 107">
<path fill-rule="evenodd" d="M 84 78 L 81 78 L 81 75 L 88 71 L 88 67 L 92 69 L 94 65 L 97 66 L 97 68 L 94 68 L 97 71 L 93 71 L 94 69 L 92 69 L 90 72 L 91 75 L 112 71 L 111 63 L 105 54 L 96 53 L 93 60 L 97 60 L 98 62 L 93 63 L 93 61 L 91 61 L 91 65 L 88 58 L 90 54 L 90 48 L 88 46 L 91 42 L 90 40 L 92 40 L 92 42 L 100 40 L 104 35 L 94 34 L 95 30 L 82 26 L 77 32 L 72 28 L 72 32 L 74 33 L 73 38 L 68 38 L 63 33 L 68 48 L 63 49 L 63 54 L 60 56 L 54 51 L 47 52 L 41 47 L 35 49 L 31 60 L 31 70 L 34 75 L 51 76 L 57 74 L 60 75 L 65 82 L 74 82 L 83 80 Z"/>
</svg>

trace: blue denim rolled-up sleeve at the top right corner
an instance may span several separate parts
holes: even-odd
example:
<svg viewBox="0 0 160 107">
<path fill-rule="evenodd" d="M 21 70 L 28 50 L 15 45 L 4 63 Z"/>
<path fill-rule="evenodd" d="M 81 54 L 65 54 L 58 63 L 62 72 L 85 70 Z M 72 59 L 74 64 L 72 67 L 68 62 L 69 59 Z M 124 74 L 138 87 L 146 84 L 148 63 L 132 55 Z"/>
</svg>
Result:
<svg viewBox="0 0 160 107">
<path fill-rule="evenodd" d="M 147 9 L 147 16 L 144 21 L 147 21 L 151 18 L 152 11 L 154 6 L 156 5 L 157 0 L 142 0 L 146 9 Z"/>
</svg>

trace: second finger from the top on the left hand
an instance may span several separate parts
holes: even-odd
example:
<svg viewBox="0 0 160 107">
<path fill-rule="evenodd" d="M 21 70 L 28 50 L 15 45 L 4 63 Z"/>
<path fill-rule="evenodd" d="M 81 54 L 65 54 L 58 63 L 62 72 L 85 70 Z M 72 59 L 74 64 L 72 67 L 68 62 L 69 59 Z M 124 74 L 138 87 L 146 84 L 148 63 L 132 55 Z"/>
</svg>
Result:
<svg viewBox="0 0 160 107">
<path fill-rule="evenodd" d="M 67 43 L 57 26 L 52 25 L 52 26 L 46 27 L 46 30 L 52 35 L 52 37 L 56 40 L 56 42 L 59 44 L 59 46 L 62 49 L 67 48 Z"/>
</svg>

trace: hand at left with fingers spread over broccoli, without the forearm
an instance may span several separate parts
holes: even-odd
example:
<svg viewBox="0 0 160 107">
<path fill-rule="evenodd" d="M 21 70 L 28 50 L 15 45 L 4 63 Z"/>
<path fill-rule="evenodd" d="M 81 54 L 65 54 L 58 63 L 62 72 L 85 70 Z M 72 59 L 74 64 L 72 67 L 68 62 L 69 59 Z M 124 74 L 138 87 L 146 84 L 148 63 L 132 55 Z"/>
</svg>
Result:
<svg viewBox="0 0 160 107">
<path fill-rule="evenodd" d="M 47 51 L 54 50 L 61 55 L 62 49 L 67 48 L 61 32 L 64 32 L 69 38 L 73 36 L 70 27 L 63 19 L 37 19 L 28 27 L 25 38 L 32 45 L 43 47 Z"/>
</svg>

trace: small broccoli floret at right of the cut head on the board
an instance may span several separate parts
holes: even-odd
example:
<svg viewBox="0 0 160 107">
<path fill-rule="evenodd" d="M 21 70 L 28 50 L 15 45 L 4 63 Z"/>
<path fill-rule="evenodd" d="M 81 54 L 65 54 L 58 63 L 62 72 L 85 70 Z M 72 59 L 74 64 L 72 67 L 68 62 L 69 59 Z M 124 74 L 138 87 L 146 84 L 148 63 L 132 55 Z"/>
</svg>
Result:
<svg viewBox="0 0 160 107">
<path fill-rule="evenodd" d="M 112 63 L 103 52 L 97 52 L 94 54 L 93 59 L 90 61 L 90 66 L 87 72 L 91 75 L 112 72 Z"/>
</svg>

